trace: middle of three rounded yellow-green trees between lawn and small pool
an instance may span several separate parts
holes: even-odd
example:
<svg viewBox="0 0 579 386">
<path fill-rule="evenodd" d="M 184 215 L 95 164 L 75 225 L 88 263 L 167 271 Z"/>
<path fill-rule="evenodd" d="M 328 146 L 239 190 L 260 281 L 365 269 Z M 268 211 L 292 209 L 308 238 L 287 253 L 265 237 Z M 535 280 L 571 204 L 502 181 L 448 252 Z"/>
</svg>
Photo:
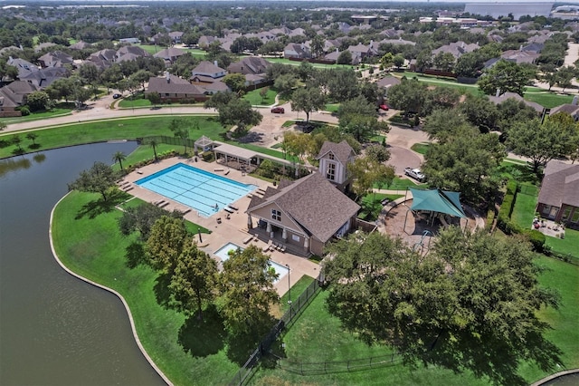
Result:
<svg viewBox="0 0 579 386">
<path fill-rule="evenodd" d="M 176 309 L 185 314 L 194 314 L 196 309 L 203 320 L 203 305 L 214 300 L 217 281 L 217 262 L 196 243 L 185 246 L 169 285 Z"/>
</svg>

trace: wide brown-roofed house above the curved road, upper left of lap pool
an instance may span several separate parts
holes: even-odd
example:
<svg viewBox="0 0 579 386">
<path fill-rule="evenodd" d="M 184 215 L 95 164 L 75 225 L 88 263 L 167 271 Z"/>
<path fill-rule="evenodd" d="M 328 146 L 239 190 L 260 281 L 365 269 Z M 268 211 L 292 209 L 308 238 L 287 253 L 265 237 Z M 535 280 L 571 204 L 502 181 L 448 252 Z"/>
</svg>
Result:
<svg viewBox="0 0 579 386">
<path fill-rule="evenodd" d="M 168 72 L 164 78 L 152 77 L 148 80 L 145 94 L 151 92 L 158 92 L 162 101 L 207 100 L 204 89 Z"/>
</svg>

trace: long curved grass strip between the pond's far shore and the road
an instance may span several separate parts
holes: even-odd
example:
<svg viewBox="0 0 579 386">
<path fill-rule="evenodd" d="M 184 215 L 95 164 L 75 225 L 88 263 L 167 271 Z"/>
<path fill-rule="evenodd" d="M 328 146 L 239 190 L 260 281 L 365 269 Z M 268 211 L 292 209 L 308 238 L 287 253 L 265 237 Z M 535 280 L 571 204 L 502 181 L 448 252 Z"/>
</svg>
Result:
<svg viewBox="0 0 579 386">
<path fill-rule="evenodd" d="M 150 116 L 72 123 L 59 127 L 51 127 L 49 130 L 34 130 L 34 133 L 38 134 L 36 143 L 40 146 L 38 149 L 28 151 L 47 150 L 106 140 L 134 140 L 138 137 L 151 135 L 167 135 L 173 137 L 173 133 L 169 130 L 169 123 L 173 119 L 175 119 L 175 116 Z M 191 130 L 192 140 L 196 140 L 202 135 L 214 140 L 221 140 L 220 134 L 225 132 L 225 129 L 223 129 L 221 124 L 215 121 L 214 118 L 187 116 L 187 119 L 192 122 L 199 122 L 200 129 Z M 14 155 L 14 150 L 17 150 L 16 146 L 7 143 L 13 135 L 13 133 L 0 135 L 0 158 L 10 157 Z M 22 146 L 25 148 L 28 144 L 28 141 L 24 138 L 25 132 L 21 133 L 21 137 L 23 137 Z"/>
</svg>

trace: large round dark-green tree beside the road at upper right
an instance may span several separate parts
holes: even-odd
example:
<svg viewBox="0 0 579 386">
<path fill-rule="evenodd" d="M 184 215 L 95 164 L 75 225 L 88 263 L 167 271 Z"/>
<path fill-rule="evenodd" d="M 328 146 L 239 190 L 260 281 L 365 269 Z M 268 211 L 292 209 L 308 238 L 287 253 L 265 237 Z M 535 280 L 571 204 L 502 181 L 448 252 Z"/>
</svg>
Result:
<svg viewBox="0 0 579 386">
<path fill-rule="evenodd" d="M 498 95 L 515 92 L 523 96 L 529 80 L 529 73 L 523 66 L 501 59 L 479 78 L 479 89 L 488 95 L 498 91 Z"/>
</svg>

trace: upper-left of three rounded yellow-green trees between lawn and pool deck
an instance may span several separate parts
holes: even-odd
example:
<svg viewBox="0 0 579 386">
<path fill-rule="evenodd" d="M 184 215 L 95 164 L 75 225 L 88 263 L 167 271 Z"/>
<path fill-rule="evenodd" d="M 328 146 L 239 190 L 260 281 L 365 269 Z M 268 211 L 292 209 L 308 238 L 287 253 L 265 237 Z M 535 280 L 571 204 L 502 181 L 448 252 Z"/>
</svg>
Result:
<svg viewBox="0 0 579 386">
<path fill-rule="evenodd" d="M 183 219 L 159 217 L 151 227 L 145 244 L 149 264 L 164 274 L 173 275 L 186 241 L 187 230 Z"/>
</svg>

